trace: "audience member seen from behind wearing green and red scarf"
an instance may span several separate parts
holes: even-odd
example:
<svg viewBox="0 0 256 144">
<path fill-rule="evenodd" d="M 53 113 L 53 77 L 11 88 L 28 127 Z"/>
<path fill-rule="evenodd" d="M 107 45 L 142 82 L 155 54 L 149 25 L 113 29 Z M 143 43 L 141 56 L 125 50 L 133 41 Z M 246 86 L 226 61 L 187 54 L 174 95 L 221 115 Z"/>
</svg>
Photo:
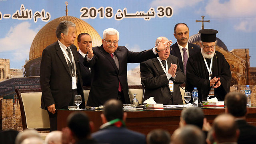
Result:
<svg viewBox="0 0 256 144">
<path fill-rule="evenodd" d="M 126 128 L 126 116 L 120 100 L 106 101 L 101 114 L 103 125 L 92 137 L 98 142 L 108 144 L 146 144 L 146 136 Z"/>
</svg>

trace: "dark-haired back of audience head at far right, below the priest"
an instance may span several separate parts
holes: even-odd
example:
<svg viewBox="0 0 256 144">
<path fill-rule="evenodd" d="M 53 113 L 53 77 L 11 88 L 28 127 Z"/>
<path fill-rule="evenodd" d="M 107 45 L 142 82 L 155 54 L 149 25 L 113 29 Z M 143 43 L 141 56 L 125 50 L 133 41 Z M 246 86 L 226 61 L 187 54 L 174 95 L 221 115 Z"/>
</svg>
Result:
<svg viewBox="0 0 256 144">
<path fill-rule="evenodd" d="M 247 112 L 247 97 L 241 92 L 229 92 L 225 96 L 226 113 L 235 117 L 244 117 Z"/>
</svg>

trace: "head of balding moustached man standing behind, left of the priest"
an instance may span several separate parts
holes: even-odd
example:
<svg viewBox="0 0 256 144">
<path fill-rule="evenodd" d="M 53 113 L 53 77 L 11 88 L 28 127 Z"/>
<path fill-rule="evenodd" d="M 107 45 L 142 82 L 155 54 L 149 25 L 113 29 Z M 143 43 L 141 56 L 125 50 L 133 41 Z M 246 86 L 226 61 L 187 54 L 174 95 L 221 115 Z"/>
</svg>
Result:
<svg viewBox="0 0 256 144">
<path fill-rule="evenodd" d="M 185 47 L 188 43 L 189 29 L 185 23 L 178 23 L 174 26 L 174 37 L 177 39 L 178 44 Z"/>
</svg>

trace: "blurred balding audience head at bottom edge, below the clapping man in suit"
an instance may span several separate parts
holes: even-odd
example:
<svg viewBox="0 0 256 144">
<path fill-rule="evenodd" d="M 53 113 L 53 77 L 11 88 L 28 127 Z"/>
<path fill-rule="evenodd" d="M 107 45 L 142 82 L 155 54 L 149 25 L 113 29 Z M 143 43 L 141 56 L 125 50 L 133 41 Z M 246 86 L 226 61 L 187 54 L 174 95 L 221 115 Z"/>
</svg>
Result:
<svg viewBox="0 0 256 144">
<path fill-rule="evenodd" d="M 171 144 L 204 144 L 205 138 L 202 130 L 194 125 L 186 125 L 174 131 Z"/>
</svg>

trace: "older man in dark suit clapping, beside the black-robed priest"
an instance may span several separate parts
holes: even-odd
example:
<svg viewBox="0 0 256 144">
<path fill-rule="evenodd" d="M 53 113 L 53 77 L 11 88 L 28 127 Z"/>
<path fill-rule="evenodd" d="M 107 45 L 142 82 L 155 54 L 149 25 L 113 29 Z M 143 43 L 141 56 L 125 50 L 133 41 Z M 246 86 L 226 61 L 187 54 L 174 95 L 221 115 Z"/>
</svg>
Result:
<svg viewBox="0 0 256 144">
<path fill-rule="evenodd" d="M 160 40 L 168 41 L 165 37 L 159 37 L 156 45 Z M 146 88 L 143 101 L 154 97 L 156 103 L 183 104 L 178 84 L 183 84 L 186 79 L 178 58 L 170 55 L 170 48 L 158 52 L 158 56 L 140 63 L 140 78 Z"/>
</svg>

